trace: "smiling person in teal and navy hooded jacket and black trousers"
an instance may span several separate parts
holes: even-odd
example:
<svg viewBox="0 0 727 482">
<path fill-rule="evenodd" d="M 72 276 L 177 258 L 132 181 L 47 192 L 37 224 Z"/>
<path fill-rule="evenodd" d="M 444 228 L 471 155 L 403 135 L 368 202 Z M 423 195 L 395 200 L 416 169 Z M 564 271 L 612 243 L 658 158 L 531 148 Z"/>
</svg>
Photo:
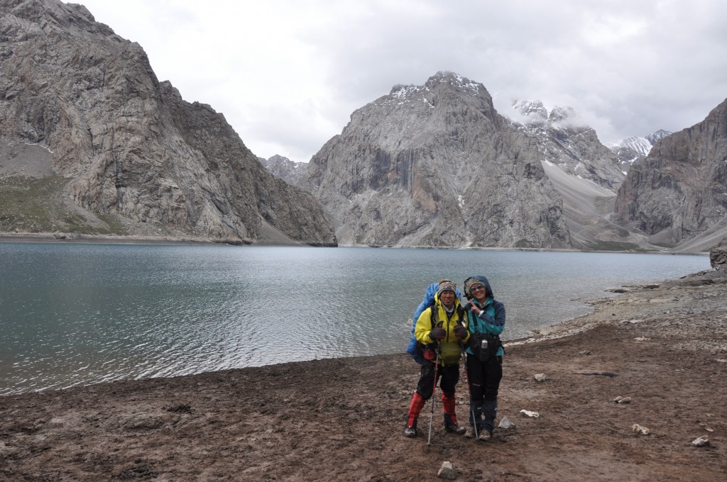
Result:
<svg viewBox="0 0 727 482">
<path fill-rule="evenodd" d="M 465 279 L 467 309 L 467 382 L 470 384 L 470 426 L 467 438 L 488 441 L 497 417 L 497 393 L 502 380 L 502 355 L 499 335 L 505 330 L 505 305 L 494 299 L 484 276 Z"/>
</svg>

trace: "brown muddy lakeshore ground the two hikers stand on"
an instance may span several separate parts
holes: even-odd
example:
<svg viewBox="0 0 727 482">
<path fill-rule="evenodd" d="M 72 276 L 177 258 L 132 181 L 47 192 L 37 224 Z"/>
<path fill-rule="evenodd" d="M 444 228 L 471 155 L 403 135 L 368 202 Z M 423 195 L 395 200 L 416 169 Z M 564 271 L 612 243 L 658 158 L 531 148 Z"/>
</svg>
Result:
<svg viewBox="0 0 727 482">
<path fill-rule="evenodd" d="M 329 359 L 0 397 L 0 480 L 435 481 L 449 461 L 459 481 L 725 481 L 726 281 L 635 288 L 508 343 L 498 421 L 515 428 L 493 441 L 445 433 L 441 403 L 431 445 L 430 404 L 403 437 L 405 354 Z"/>
</svg>

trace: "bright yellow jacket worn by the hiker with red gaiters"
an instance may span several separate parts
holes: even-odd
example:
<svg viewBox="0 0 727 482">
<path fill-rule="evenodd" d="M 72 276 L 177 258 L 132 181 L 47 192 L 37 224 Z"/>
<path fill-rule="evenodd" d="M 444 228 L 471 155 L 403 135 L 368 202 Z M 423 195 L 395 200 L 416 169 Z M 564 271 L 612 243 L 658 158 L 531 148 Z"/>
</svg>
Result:
<svg viewBox="0 0 727 482">
<path fill-rule="evenodd" d="M 437 310 L 437 325 L 444 328 L 447 334 L 443 340 L 437 341 L 429 338 L 429 333 L 435 328 L 432 326 L 432 310 Z M 457 324 L 464 324 L 467 326 L 467 314 L 461 308 L 459 298 L 454 298 L 454 312 L 451 317 L 447 316 L 447 312 L 444 309 L 441 301 L 439 301 L 439 293 L 434 295 L 434 305 L 422 311 L 417 319 L 417 326 L 414 328 L 414 338 L 417 338 L 419 343 L 425 346 L 437 347 L 439 351 L 440 364 L 443 365 L 454 365 L 459 362 L 459 356 L 462 354 L 462 349 L 466 347 L 467 340 L 470 338 L 470 333 L 467 332 L 465 338 L 457 338 L 454 335 L 454 327 Z"/>
</svg>

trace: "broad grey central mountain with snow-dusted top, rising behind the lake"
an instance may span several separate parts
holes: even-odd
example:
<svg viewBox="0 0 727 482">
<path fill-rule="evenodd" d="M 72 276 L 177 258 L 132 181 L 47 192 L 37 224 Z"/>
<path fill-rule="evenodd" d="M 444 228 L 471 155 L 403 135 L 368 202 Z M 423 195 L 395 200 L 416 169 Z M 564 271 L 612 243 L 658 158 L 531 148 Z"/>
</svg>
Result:
<svg viewBox="0 0 727 482">
<path fill-rule="evenodd" d="M 437 73 L 356 110 L 302 181 L 342 244 L 566 248 L 537 143 L 481 83 Z"/>
</svg>

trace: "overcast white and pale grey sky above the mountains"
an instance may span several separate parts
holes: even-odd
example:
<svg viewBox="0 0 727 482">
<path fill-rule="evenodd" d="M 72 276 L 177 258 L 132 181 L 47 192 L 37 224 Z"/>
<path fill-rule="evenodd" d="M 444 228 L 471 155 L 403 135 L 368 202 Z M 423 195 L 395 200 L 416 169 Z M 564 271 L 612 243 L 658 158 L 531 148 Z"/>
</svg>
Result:
<svg viewBox="0 0 727 482">
<path fill-rule="evenodd" d="M 71 3 L 71 2 L 69 2 Z M 440 70 L 570 105 L 604 144 L 727 98 L 723 0 L 73 0 L 263 158 L 308 161 L 353 110 Z"/>
</svg>

